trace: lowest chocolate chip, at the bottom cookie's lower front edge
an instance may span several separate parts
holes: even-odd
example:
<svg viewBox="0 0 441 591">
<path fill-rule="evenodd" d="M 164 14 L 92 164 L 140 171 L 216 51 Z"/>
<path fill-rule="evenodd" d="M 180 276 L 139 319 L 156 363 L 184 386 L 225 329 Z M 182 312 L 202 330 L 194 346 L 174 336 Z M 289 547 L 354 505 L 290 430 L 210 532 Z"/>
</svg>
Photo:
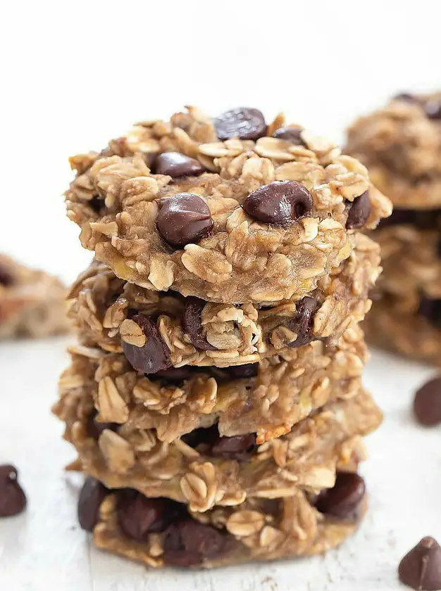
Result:
<svg viewBox="0 0 441 591">
<path fill-rule="evenodd" d="M 225 533 L 212 526 L 183 519 L 173 523 L 164 539 L 164 561 L 173 566 L 201 564 L 204 558 L 221 554 L 228 541 Z"/>
</svg>

